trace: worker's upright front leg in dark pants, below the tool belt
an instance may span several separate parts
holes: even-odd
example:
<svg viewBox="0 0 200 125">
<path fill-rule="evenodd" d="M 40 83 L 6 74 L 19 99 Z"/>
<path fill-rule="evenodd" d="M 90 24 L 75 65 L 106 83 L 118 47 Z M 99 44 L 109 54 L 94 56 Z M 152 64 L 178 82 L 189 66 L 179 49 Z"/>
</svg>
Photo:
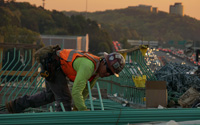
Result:
<svg viewBox="0 0 200 125">
<path fill-rule="evenodd" d="M 54 93 L 56 100 L 56 110 L 62 111 L 60 103 L 62 102 L 66 111 L 71 111 L 72 97 L 68 87 L 69 80 L 61 69 L 55 73 L 54 81 L 46 81 Z"/>
</svg>

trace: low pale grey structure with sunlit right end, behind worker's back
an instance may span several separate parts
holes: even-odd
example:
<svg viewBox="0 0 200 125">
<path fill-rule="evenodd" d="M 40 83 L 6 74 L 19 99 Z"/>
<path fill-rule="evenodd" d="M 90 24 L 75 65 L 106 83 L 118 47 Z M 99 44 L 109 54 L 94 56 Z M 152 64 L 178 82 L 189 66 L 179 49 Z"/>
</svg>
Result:
<svg viewBox="0 0 200 125">
<path fill-rule="evenodd" d="M 60 45 L 63 49 L 77 49 L 88 52 L 89 36 L 57 36 L 57 35 L 41 35 L 41 39 L 45 46 Z"/>
</svg>

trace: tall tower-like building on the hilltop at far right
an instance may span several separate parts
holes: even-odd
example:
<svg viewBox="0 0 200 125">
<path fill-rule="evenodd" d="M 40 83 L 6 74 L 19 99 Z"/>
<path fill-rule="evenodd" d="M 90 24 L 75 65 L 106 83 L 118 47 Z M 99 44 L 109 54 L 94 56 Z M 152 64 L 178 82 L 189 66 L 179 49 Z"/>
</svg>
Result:
<svg viewBox="0 0 200 125">
<path fill-rule="evenodd" d="M 169 13 L 171 14 L 177 14 L 177 15 L 181 15 L 184 16 L 184 8 L 182 3 L 175 3 L 174 5 L 170 5 L 169 8 Z"/>
</svg>

